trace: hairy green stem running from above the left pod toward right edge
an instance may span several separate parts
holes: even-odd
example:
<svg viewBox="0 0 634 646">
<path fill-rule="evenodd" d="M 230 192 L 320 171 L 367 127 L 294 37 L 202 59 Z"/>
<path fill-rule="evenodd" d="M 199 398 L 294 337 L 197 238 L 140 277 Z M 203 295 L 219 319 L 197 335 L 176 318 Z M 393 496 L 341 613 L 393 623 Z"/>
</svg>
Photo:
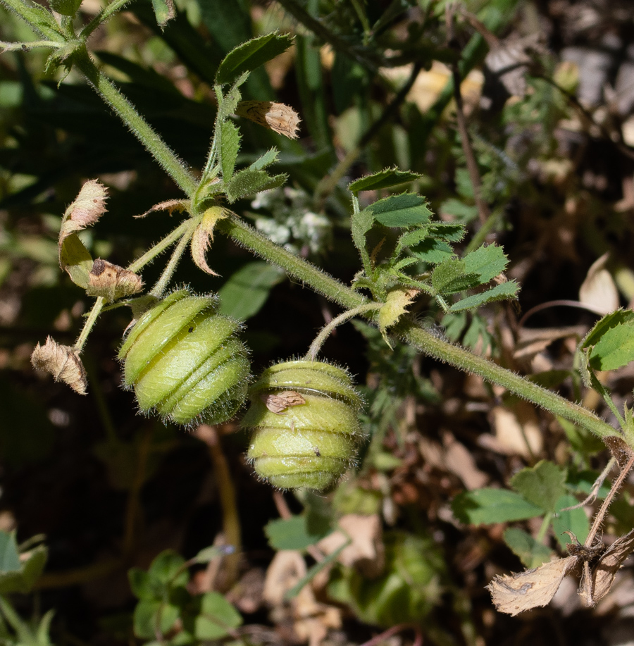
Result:
<svg viewBox="0 0 634 646">
<path fill-rule="evenodd" d="M 259 232 L 249 227 L 241 220 L 231 217 L 219 220 L 216 229 L 230 235 L 238 243 L 248 247 L 263 259 L 274 263 L 284 269 L 294 278 L 309 285 L 311 289 L 328 297 L 331 301 L 340 304 L 345 309 L 354 309 L 366 304 L 362 294 L 358 294 L 346 285 L 332 278 L 315 266 L 294 256 L 278 247 L 277 244 L 268 240 Z M 369 316 L 368 313 L 365 316 Z M 559 415 L 569 421 L 588 428 L 599 437 L 623 437 L 619 430 L 612 428 L 607 422 L 599 419 L 592 411 L 584 409 L 578 404 L 568 402 L 567 399 L 554 392 L 531 383 L 530 381 L 516 375 L 506 368 L 488 361 L 482 356 L 472 354 L 468 350 L 454 345 L 444 339 L 438 338 L 432 333 L 419 327 L 415 321 L 405 321 L 398 326 L 397 334 L 403 340 L 418 348 L 434 359 L 444 361 L 463 371 L 480 375 L 483 379 L 502 385 L 509 392 L 527 399 L 537 406 L 541 406 L 554 415 Z"/>
</svg>

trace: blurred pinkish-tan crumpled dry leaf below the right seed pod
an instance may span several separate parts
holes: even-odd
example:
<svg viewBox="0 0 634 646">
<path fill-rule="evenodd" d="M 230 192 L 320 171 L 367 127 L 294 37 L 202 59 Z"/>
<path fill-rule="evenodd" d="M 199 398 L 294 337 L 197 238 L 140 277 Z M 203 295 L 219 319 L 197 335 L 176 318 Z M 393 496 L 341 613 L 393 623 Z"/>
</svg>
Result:
<svg viewBox="0 0 634 646">
<path fill-rule="evenodd" d="M 348 567 L 356 567 L 363 576 L 378 576 L 385 567 L 385 546 L 378 514 L 346 514 L 338 524 L 340 530 L 322 538 L 317 547 L 324 554 L 332 554 L 352 540 L 342 549 L 337 561 Z"/>
</svg>

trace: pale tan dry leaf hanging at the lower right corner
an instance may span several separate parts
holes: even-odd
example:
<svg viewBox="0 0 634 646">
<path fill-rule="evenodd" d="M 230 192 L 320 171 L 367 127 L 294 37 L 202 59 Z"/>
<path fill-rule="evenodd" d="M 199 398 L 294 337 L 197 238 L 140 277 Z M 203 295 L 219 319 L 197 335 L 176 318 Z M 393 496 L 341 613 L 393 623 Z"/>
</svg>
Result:
<svg viewBox="0 0 634 646">
<path fill-rule="evenodd" d="M 487 590 L 500 612 L 515 616 L 548 604 L 577 561 L 578 557 L 566 557 L 518 574 L 497 576 Z"/>
</svg>

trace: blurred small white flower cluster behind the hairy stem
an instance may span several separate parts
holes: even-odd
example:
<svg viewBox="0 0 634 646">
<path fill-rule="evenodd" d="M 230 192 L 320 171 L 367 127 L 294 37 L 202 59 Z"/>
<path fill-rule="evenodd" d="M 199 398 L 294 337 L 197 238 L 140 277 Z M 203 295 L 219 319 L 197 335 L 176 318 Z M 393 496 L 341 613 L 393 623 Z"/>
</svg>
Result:
<svg viewBox="0 0 634 646">
<path fill-rule="evenodd" d="M 319 254 L 330 244 L 332 223 L 322 213 L 310 210 L 309 195 L 301 189 L 284 187 L 258 193 L 251 213 L 258 230 L 294 254 Z"/>
</svg>

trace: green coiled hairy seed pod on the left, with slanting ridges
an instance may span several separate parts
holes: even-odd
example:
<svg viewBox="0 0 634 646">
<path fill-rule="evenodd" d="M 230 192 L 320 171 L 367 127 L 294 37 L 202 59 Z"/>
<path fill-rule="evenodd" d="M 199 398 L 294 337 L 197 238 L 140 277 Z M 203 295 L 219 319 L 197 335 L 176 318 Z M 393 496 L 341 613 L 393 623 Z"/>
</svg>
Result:
<svg viewBox="0 0 634 646">
<path fill-rule="evenodd" d="M 139 317 L 119 351 L 139 409 L 185 426 L 218 424 L 247 397 L 249 357 L 240 323 L 214 311 L 216 297 L 179 290 Z"/>
</svg>

